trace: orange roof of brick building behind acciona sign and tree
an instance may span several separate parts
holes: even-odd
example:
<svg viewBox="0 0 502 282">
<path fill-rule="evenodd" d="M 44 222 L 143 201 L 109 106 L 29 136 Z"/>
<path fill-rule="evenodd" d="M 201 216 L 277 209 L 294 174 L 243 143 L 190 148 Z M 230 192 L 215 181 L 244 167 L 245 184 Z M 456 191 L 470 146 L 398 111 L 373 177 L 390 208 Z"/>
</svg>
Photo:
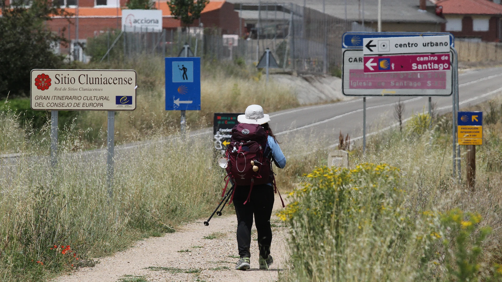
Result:
<svg viewBox="0 0 502 282">
<path fill-rule="evenodd" d="M 202 10 L 202 13 L 214 11 L 220 9 L 223 4 L 225 3 L 225 0 L 223 1 L 210 1 L 209 4 L 206 5 L 204 10 Z M 155 3 L 156 8 L 159 8 L 158 2 Z M 74 8 L 65 8 L 67 12 L 75 14 L 75 9 Z M 169 10 L 169 7 L 167 6 L 167 2 L 161 2 L 160 3 L 160 10 L 162 10 L 162 16 L 163 17 L 169 17 L 171 16 L 171 11 Z M 80 7 L 78 9 L 78 16 L 79 17 L 116 17 L 117 16 L 117 9 L 116 8 L 95 8 L 95 7 Z M 118 9 L 118 16 L 122 16 L 122 10 Z"/>
</svg>

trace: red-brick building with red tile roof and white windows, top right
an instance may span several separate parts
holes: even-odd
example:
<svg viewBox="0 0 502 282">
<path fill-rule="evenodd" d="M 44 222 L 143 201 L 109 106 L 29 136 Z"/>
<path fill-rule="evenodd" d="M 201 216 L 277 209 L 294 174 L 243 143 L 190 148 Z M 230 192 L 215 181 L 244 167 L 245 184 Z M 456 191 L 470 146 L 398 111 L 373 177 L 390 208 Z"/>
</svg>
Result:
<svg viewBox="0 0 502 282">
<path fill-rule="evenodd" d="M 491 42 L 502 38 L 500 4 L 488 0 L 442 0 L 436 2 L 436 8 L 436 13 L 447 20 L 441 31 L 452 33 L 455 38 Z"/>
</svg>

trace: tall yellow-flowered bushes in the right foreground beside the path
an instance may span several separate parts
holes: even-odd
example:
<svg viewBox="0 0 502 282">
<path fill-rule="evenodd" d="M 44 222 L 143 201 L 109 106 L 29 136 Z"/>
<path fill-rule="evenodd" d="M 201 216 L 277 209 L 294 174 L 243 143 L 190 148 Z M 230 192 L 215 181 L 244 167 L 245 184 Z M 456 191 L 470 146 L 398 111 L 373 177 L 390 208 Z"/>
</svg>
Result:
<svg viewBox="0 0 502 282">
<path fill-rule="evenodd" d="M 477 213 L 410 205 L 406 177 L 388 164 L 317 167 L 278 213 L 289 226 L 282 281 L 500 281 L 483 262 L 490 228 Z"/>
</svg>

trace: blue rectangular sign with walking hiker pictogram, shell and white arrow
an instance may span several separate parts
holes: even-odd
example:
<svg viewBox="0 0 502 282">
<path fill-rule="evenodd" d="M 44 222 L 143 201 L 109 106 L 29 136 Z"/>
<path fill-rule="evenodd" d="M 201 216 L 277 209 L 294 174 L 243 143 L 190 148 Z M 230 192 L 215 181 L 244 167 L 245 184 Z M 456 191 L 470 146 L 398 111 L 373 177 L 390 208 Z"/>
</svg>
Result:
<svg viewBox="0 0 502 282">
<path fill-rule="evenodd" d="M 200 111 L 200 58 L 166 58 L 166 111 Z"/>
</svg>

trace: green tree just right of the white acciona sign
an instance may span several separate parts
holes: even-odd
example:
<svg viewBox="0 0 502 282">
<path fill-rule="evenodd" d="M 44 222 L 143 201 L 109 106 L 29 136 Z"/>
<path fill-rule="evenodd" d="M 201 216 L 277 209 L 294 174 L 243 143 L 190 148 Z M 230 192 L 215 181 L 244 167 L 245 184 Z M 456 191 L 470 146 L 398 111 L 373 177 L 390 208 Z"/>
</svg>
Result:
<svg viewBox="0 0 502 282">
<path fill-rule="evenodd" d="M 209 0 L 171 0 L 167 6 L 176 20 L 181 20 L 186 28 L 190 28 L 189 26 L 200 18 L 200 13 L 208 3 Z"/>
</svg>

